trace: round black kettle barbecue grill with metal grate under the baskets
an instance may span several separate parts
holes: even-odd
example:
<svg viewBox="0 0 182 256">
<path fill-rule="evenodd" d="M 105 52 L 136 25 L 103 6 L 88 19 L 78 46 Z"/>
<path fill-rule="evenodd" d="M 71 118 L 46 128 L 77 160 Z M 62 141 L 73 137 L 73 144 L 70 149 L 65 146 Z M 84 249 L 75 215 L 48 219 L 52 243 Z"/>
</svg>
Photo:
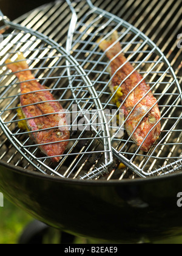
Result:
<svg viewBox="0 0 182 256">
<path fill-rule="evenodd" d="M 81 21 L 84 20 L 90 7 L 86 1 L 75 1 L 72 4 L 73 9 L 66 1 L 50 2 L 44 7 L 31 11 L 29 15 L 16 19 L 16 23 L 38 30 L 55 40 L 63 48 L 69 49 L 82 65 L 83 59 L 79 55 L 79 47 L 84 46 L 85 42 L 78 34 L 76 35 L 78 40 L 75 40 L 74 33 L 78 32 L 76 29 L 70 31 L 73 41 L 72 37 L 67 41 L 67 32 L 70 21 L 74 18 L 74 10 L 78 15 L 75 28 L 76 24 L 84 27 L 85 23 L 81 24 Z M 156 241 L 160 238 L 181 235 L 181 208 L 177 206 L 177 194 L 181 191 L 182 184 L 180 173 L 181 118 L 179 118 L 181 115 L 182 69 L 181 44 L 177 38 L 181 32 L 181 2 L 131 0 L 112 1 L 111 4 L 110 1 L 100 0 L 92 1 L 92 4 L 132 24 L 157 44 L 174 70 L 174 74 L 164 71 L 163 65 L 161 62 L 159 63 L 157 71 L 153 71 L 152 77 L 157 79 L 157 76 L 165 73 L 165 79 L 162 77 L 159 82 L 160 85 L 165 84 L 167 86 L 170 82 L 176 83 L 176 78 L 178 79 L 179 87 L 174 87 L 174 90 L 169 91 L 169 93 L 166 92 L 167 100 L 161 105 L 162 108 L 166 106 L 169 110 L 172 109 L 170 115 L 164 116 L 164 119 L 166 118 L 164 124 L 169 125 L 164 126 L 163 129 L 164 133 L 168 132 L 167 140 L 160 144 L 157 155 L 150 157 L 150 154 L 147 157 L 147 155 L 138 152 L 133 157 L 142 157 L 141 166 L 144 161 L 147 161 L 147 164 L 149 163 L 147 167 L 149 172 L 147 173 L 152 173 L 152 175 L 149 175 L 150 177 L 147 179 L 141 179 L 136 174 L 135 169 L 132 168 L 135 162 L 132 162 L 133 165 L 129 165 L 126 161 L 127 167 L 119 169 L 120 161 L 123 161 L 124 158 L 116 157 L 115 154 L 114 161 L 107 170 L 109 174 L 101 174 L 92 180 L 75 179 L 80 177 L 81 171 L 86 172 L 90 162 L 91 168 L 87 170 L 87 175 L 101 161 L 101 155 L 94 158 L 91 154 L 76 170 L 74 179 L 53 175 L 45 176 L 33 168 L 30 162 L 19 154 L 19 151 L 16 151 L 4 132 L 1 132 L 1 152 L 3 152 L 0 171 L 1 191 L 10 201 L 35 216 L 36 219 L 75 235 L 120 243 L 141 240 Z M 74 48 L 74 43 L 76 48 Z M 90 43 L 92 44 L 92 41 Z M 146 52 L 143 49 L 140 50 L 138 59 L 133 60 L 134 65 L 140 64 L 141 55 L 147 54 L 149 49 L 145 49 Z M 89 51 L 88 48 L 87 51 Z M 132 51 L 133 49 L 128 49 L 128 54 L 132 54 Z M 93 62 L 90 61 L 89 67 L 83 65 L 83 68 L 88 75 L 89 71 L 92 70 L 90 80 L 94 84 L 93 74 L 96 74 L 96 71 L 90 66 L 92 64 Z M 103 65 L 107 65 L 104 60 Z M 149 60 L 145 65 L 148 68 L 152 62 Z M 107 72 L 104 73 L 104 76 L 108 77 Z M 158 81 L 152 80 L 151 77 L 150 79 L 151 84 Z M 101 81 L 99 80 L 99 82 Z M 95 88 L 99 94 L 100 88 L 97 86 Z M 161 95 L 161 91 L 157 91 L 156 94 Z M 102 97 L 107 98 L 108 95 L 107 90 L 103 91 Z M 171 104 L 172 108 L 170 108 Z M 170 136 L 171 134 L 172 136 Z M 129 140 L 127 143 L 132 148 L 132 141 Z M 128 149 L 127 154 L 121 148 L 117 151 L 120 151 L 121 155 L 124 153 L 127 160 L 130 159 L 131 155 L 133 156 L 133 153 Z M 118 152 L 116 153 L 118 154 Z M 148 161 L 149 157 L 152 162 Z M 138 161 L 140 162 L 140 160 Z M 65 168 L 64 165 L 62 166 Z M 68 166 L 66 167 L 68 168 Z M 161 172 L 162 174 L 172 173 L 160 176 Z"/>
</svg>

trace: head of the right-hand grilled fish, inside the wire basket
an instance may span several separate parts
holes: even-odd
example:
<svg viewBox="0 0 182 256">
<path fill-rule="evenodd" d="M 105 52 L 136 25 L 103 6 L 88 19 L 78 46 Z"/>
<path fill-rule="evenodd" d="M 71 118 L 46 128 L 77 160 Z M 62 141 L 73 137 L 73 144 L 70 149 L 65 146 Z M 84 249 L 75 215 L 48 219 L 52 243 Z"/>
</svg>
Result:
<svg viewBox="0 0 182 256">
<path fill-rule="evenodd" d="M 133 110 L 126 122 L 126 130 L 133 141 L 144 152 L 148 152 L 161 133 L 160 111 L 158 106 L 149 112 L 140 106 Z"/>
</svg>

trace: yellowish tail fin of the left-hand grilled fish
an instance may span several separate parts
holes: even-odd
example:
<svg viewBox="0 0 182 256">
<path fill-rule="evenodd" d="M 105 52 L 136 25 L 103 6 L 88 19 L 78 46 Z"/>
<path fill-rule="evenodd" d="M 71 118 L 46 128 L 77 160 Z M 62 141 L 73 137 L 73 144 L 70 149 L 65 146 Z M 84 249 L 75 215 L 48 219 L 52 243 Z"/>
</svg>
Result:
<svg viewBox="0 0 182 256">
<path fill-rule="evenodd" d="M 13 73 L 16 73 L 16 76 L 19 77 L 20 73 L 19 71 L 22 71 L 24 69 L 29 69 L 29 65 L 27 64 L 24 55 L 22 52 L 19 52 L 18 57 L 16 57 L 15 60 L 13 58 L 9 58 L 5 61 L 5 64 L 9 69 L 12 70 Z M 30 72 L 30 71 L 23 71 L 24 73 Z"/>
</svg>

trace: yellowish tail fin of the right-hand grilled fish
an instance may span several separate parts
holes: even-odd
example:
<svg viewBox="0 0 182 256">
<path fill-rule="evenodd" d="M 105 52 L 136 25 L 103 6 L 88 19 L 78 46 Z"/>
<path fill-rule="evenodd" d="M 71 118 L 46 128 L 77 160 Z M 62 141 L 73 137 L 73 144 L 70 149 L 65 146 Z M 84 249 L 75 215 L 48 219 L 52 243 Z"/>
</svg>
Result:
<svg viewBox="0 0 182 256">
<path fill-rule="evenodd" d="M 121 51 L 121 44 L 118 41 L 118 32 L 114 31 L 113 34 L 107 38 L 106 40 L 102 40 L 101 38 L 97 41 L 99 44 L 99 48 L 105 52 L 109 59 L 112 59 L 118 52 Z"/>
</svg>

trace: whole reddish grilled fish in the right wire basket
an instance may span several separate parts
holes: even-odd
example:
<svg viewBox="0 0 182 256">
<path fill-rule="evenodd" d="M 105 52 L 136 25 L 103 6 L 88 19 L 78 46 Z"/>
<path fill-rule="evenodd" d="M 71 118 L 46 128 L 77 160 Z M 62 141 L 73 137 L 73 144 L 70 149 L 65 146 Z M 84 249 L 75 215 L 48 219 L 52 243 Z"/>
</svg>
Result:
<svg viewBox="0 0 182 256">
<path fill-rule="evenodd" d="M 113 76 L 110 90 L 118 93 L 119 88 L 122 92 L 114 102 L 124 111 L 127 133 L 142 151 L 148 152 L 161 133 L 157 99 L 143 76 L 134 70 L 121 52 L 117 31 L 108 40 L 99 39 L 98 44 L 110 60 L 110 74 Z"/>
</svg>

